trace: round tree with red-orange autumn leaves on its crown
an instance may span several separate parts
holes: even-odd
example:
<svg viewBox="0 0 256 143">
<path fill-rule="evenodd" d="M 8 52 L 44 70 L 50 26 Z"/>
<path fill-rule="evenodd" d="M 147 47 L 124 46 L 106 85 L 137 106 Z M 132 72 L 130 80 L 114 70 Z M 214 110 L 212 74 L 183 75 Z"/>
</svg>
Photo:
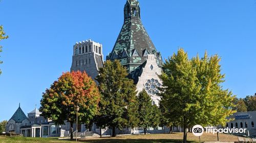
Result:
<svg viewBox="0 0 256 143">
<path fill-rule="evenodd" d="M 73 71 L 63 73 L 50 89 L 42 94 L 39 111 L 56 125 L 70 122 L 71 139 L 73 123 L 76 122 L 75 106 L 79 106 L 78 122 L 89 124 L 98 111 L 100 94 L 96 83 L 85 73 Z"/>
</svg>

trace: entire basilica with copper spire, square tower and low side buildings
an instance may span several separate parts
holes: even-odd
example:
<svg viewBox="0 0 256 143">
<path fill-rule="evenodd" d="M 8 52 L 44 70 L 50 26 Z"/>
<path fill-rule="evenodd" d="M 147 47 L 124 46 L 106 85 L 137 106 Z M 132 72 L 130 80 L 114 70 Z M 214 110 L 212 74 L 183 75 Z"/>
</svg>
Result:
<svg viewBox="0 0 256 143">
<path fill-rule="evenodd" d="M 137 91 L 143 89 L 151 96 L 153 103 L 159 105 L 160 97 L 157 96 L 158 88 L 162 85 L 158 75 L 162 73 L 163 60 L 161 53 L 157 51 L 150 36 L 147 34 L 141 21 L 141 9 L 138 0 L 126 0 L 124 5 L 124 22 L 121 31 L 114 44 L 113 50 L 106 56 L 106 60 L 119 60 L 127 68 L 128 78 L 136 84 Z M 99 68 L 103 67 L 102 44 L 91 39 L 76 42 L 73 46 L 71 71 L 86 71 L 94 80 L 98 76 Z M 96 81 L 96 80 L 95 80 Z M 97 81 L 96 81 L 97 82 Z M 74 124 L 74 129 L 79 135 L 86 132 L 102 135 L 111 135 L 111 129 L 99 129 L 93 124 L 90 129 L 85 125 Z M 53 122 L 40 116 L 35 108 L 28 116 L 18 107 L 7 125 L 7 131 L 21 133 L 31 137 L 69 136 L 69 123 L 56 126 Z M 181 128 L 173 128 L 173 131 L 182 131 Z M 140 128 L 127 128 L 117 130 L 117 134 L 133 134 L 143 132 Z M 168 133 L 169 128 L 148 128 L 150 133 Z"/>
</svg>

